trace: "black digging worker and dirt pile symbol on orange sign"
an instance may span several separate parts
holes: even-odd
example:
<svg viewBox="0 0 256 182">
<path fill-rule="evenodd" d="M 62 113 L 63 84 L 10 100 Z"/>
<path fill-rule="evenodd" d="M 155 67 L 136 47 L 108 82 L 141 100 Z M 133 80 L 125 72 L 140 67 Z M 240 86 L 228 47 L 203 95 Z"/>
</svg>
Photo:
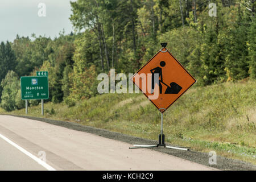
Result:
<svg viewBox="0 0 256 182">
<path fill-rule="evenodd" d="M 165 65 L 166 65 L 166 62 L 164 62 L 164 61 L 160 62 L 160 66 L 161 67 L 164 67 Z M 153 93 L 154 89 L 155 89 L 156 80 L 155 80 L 155 75 L 154 74 L 156 74 L 156 73 L 158 73 L 158 76 L 159 76 L 158 86 L 159 86 L 160 94 L 162 94 L 162 89 L 163 89 L 162 84 L 167 86 L 166 92 L 164 92 L 164 94 L 177 94 L 182 89 L 182 87 L 180 85 L 176 84 L 176 82 L 171 82 L 170 86 L 163 82 L 162 68 L 156 67 L 154 69 L 151 69 L 150 72 L 152 73 L 152 77 L 151 77 L 151 81 L 152 81 L 151 93 Z"/>
</svg>

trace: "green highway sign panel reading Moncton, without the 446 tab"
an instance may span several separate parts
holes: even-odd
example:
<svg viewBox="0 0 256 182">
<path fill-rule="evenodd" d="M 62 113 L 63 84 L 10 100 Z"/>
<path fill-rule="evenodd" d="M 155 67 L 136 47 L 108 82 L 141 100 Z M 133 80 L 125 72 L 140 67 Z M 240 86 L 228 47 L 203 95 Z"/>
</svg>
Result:
<svg viewBox="0 0 256 182">
<path fill-rule="evenodd" d="M 20 78 L 22 100 L 49 98 L 48 76 L 24 76 Z"/>
</svg>

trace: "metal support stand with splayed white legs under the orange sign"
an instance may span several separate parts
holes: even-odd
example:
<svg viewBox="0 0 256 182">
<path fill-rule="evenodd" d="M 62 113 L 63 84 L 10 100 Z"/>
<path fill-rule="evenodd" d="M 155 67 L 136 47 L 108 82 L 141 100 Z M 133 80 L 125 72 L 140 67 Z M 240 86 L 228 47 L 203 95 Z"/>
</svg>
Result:
<svg viewBox="0 0 256 182">
<path fill-rule="evenodd" d="M 166 110 L 165 108 L 160 108 L 159 111 L 161 110 Z M 172 147 L 172 146 L 166 146 L 166 144 L 164 143 L 164 134 L 163 134 L 163 113 L 161 111 L 161 130 L 160 130 L 160 134 L 159 134 L 159 140 L 158 140 L 158 144 L 156 145 L 146 145 L 146 144 L 134 144 L 134 147 L 129 147 L 130 149 L 135 149 L 135 148 L 159 148 L 160 146 L 163 146 L 164 148 L 172 148 L 172 149 L 176 149 L 176 150 L 185 150 L 188 151 L 189 148 L 181 148 L 181 147 Z"/>
</svg>

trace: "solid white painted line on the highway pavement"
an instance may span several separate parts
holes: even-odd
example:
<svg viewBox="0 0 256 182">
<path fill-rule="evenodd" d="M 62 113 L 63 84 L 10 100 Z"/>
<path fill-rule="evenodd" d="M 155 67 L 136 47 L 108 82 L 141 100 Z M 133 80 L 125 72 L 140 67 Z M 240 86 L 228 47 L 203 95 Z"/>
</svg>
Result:
<svg viewBox="0 0 256 182">
<path fill-rule="evenodd" d="M 0 134 L 0 137 L 2 139 L 4 139 L 6 142 L 10 143 L 12 146 L 14 146 L 15 148 L 17 148 L 18 150 L 20 150 L 21 152 L 23 152 L 24 154 L 26 154 L 27 156 L 29 156 L 31 159 L 34 159 L 36 162 L 38 162 L 40 165 L 42 165 L 44 168 L 46 168 L 48 171 L 56 171 L 55 168 L 49 166 L 49 164 L 47 164 L 46 162 L 44 162 L 43 160 L 37 158 L 35 155 L 31 154 L 30 152 L 24 150 L 24 148 L 18 146 L 18 144 L 14 143 L 13 141 L 11 141 L 10 139 L 6 138 L 5 136 Z"/>
</svg>

